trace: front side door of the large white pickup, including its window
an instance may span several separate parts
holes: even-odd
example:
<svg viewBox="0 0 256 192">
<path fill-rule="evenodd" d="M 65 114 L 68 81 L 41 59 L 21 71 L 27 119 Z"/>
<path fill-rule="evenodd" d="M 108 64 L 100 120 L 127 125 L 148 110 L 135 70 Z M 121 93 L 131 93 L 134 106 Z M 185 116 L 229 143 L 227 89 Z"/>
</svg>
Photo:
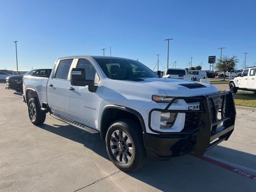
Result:
<svg viewBox="0 0 256 192">
<path fill-rule="evenodd" d="M 85 69 L 86 80 L 99 83 L 99 76 L 89 58 L 80 58 L 75 64 L 76 68 Z M 90 92 L 88 86 L 72 86 L 68 82 L 67 108 L 68 117 L 81 124 L 95 128 L 98 118 L 99 87 L 96 92 Z"/>
</svg>

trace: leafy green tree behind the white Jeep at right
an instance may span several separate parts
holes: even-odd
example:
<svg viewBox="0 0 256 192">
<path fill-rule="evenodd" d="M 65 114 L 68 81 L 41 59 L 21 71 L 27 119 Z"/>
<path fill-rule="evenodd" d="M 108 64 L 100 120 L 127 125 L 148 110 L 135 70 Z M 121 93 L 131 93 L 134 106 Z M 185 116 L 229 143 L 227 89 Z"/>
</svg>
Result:
<svg viewBox="0 0 256 192">
<path fill-rule="evenodd" d="M 237 58 L 237 56 L 232 56 L 232 57 L 228 57 L 226 55 L 224 55 L 221 60 L 218 59 L 217 63 L 216 63 L 216 69 L 218 69 L 220 72 L 224 72 L 224 80 L 225 80 L 225 76 L 226 76 L 226 71 L 228 70 L 234 70 L 236 63 L 238 63 L 239 60 Z"/>
</svg>

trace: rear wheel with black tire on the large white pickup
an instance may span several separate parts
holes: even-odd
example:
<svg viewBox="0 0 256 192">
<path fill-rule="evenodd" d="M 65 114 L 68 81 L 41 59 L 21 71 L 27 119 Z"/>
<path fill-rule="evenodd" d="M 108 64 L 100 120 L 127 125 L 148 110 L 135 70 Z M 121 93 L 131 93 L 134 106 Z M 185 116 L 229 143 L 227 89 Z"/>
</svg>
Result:
<svg viewBox="0 0 256 192">
<path fill-rule="evenodd" d="M 37 98 L 31 98 L 28 101 L 28 116 L 34 125 L 40 125 L 44 123 L 46 113 L 41 111 Z"/>
</svg>

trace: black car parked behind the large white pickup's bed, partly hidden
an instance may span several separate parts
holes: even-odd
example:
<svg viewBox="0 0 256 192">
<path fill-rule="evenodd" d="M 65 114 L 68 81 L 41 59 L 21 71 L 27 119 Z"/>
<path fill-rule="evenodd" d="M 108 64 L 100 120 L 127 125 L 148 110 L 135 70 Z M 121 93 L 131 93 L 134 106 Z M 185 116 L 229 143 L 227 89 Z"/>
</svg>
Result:
<svg viewBox="0 0 256 192">
<path fill-rule="evenodd" d="M 52 69 L 34 69 L 29 72 L 26 72 L 24 75 L 41 76 L 49 78 L 51 72 Z M 22 84 L 24 75 L 12 75 L 7 77 L 6 88 L 16 90 L 17 92 L 23 92 Z"/>
</svg>

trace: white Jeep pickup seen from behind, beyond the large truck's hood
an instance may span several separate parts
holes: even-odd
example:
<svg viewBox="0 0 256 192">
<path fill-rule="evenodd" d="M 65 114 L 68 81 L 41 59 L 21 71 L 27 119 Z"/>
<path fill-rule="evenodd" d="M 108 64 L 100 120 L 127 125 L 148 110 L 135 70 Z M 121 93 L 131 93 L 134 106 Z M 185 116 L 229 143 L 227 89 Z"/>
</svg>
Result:
<svg viewBox="0 0 256 192">
<path fill-rule="evenodd" d="M 186 69 L 168 68 L 164 70 L 163 78 L 181 79 L 194 81 L 194 77 L 187 75 Z"/>
</svg>

